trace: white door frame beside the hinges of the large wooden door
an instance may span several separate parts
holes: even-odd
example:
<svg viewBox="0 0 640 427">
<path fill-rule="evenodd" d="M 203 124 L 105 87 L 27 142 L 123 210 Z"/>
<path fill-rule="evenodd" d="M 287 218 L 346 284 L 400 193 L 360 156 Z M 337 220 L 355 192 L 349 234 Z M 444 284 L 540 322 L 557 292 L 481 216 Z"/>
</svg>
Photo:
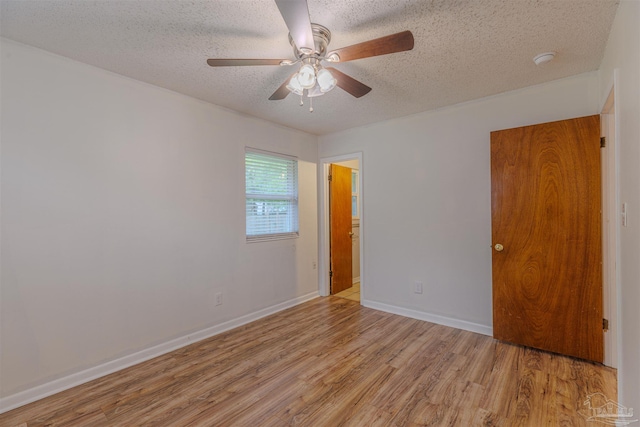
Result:
<svg viewBox="0 0 640 427">
<path fill-rule="evenodd" d="M 601 136 L 606 138 L 606 150 L 602 168 L 602 232 L 603 232 L 603 316 L 609 320 L 609 331 L 604 333 L 604 364 L 612 368 L 620 366 L 622 343 L 620 337 L 620 149 L 616 136 L 619 135 L 620 123 L 616 93 L 618 70 L 614 70 L 613 81 L 606 98 L 601 103 L 600 123 Z M 609 221 L 607 222 L 607 219 Z"/>
</svg>

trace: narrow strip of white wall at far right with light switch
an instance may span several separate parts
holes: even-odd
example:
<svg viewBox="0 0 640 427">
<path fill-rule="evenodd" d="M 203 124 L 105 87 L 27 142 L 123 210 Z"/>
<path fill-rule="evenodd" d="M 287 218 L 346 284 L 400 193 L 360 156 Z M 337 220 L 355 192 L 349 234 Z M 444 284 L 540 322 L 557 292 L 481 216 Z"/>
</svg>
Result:
<svg viewBox="0 0 640 427">
<path fill-rule="evenodd" d="M 600 99 L 614 74 L 619 201 L 627 203 L 628 226 L 620 232 L 619 401 L 640 410 L 640 2 L 623 0 L 600 67 Z M 619 219 L 618 219 L 619 222 Z"/>
</svg>

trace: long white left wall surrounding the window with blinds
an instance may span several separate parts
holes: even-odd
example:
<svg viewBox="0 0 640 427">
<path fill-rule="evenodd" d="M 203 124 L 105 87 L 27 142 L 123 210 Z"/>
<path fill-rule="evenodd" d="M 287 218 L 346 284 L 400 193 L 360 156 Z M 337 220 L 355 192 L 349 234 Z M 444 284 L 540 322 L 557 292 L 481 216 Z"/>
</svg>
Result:
<svg viewBox="0 0 640 427">
<path fill-rule="evenodd" d="M 315 136 L 1 43 L 0 397 L 317 294 Z M 245 145 L 300 238 L 245 243 Z"/>
</svg>

